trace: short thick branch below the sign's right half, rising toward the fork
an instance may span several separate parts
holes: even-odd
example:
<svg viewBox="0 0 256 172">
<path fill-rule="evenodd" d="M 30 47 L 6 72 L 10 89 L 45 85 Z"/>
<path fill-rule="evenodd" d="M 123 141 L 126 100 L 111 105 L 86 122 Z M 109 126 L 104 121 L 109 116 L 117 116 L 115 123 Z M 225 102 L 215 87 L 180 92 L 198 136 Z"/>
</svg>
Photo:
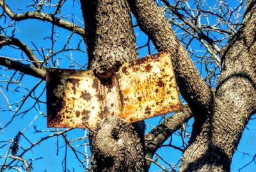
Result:
<svg viewBox="0 0 256 172">
<path fill-rule="evenodd" d="M 150 133 L 145 136 L 145 157 L 152 159 L 157 149 L 166 141 L 175 131 L 182 127 L 184 122 L 192 117 L 188 104 L 184 105 L 181 111 L 167 118 L 166 121 L 157 125 Z M 150 167 L 150 161 L 147 161 L 147 168 Z"/>
</svg>

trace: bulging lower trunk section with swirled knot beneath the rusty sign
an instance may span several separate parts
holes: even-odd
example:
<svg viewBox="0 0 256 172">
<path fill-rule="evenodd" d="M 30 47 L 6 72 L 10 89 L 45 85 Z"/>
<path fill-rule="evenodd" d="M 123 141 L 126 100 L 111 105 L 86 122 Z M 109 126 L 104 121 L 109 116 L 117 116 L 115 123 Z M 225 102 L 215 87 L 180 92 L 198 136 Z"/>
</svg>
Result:
<svg viewBox="0 0 256 172">
<path fill-rule="evenodd" d="M 140 138 L 125 120 L 118 117 L 102 120 L 90 135 L 90 140 L 92 171 L 143 171 Z"/>
</svg>

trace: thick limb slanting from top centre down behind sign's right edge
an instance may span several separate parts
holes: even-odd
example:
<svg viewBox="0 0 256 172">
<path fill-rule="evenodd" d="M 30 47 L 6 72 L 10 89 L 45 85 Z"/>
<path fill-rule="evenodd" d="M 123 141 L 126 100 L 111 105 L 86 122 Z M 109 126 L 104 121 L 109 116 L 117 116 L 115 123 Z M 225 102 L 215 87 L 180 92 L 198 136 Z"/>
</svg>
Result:
<svg viewBox="0 0 256 172">
<path fill-rule="evenodd" d="M 151 0 L 129 0 L 129 4 L 141 30 L 152 39 L 157 50 L 170 51 L 180 94 L 188 102 L 195 117 L 193 134 L 196 136 L 202 129 L 206 114 L 211 110 L 211 90 L 157 4 Z"/>
</svg>

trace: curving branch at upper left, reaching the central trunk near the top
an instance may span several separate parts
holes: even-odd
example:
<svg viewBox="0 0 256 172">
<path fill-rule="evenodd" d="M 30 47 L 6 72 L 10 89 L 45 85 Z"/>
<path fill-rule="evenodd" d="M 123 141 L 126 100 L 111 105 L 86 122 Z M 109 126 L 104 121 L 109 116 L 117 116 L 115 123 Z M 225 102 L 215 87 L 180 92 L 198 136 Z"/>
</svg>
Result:
<svg viewBox="0 0 256 172">
<path fill-rule="evenodd" d="M 29 18 L 33 18 L 36 20 L 42 20 L 51 22 L 54 25 L 57 25 L 58 27 L 61 27 L 63 29 L 67 29 L 68 31 L 75 32 L 76 34 L 79 34 L 84 38 L 84 28 L 74 24 L 73 22 L 68 22 L 67 20 L 63 20 L 58 17 L 54 17 L 54 15 L 49 13 L 41 13 L 39 11 L 32 11 L 32 12 L 26 12 L 26 13 L 20 13 L 16 14 L 13 13 L 13 11 L 9 8 L 9 6 L 5 3 L 5 1 L 0 1 L 0 6 L 3 8 L 4 12 L 12 18 L 12 20 L 21 21 L 26 20 Z"/>
</svg>

